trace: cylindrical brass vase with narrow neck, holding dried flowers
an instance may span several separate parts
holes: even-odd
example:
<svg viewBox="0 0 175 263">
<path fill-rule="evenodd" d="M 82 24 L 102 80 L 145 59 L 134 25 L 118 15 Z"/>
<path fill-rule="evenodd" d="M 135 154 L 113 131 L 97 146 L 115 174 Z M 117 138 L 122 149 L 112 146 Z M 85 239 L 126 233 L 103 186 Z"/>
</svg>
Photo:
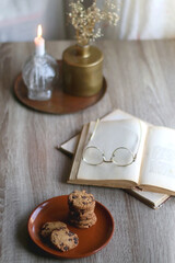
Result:
<svg viewBox="0 0 175 263">
<path fill-rule="evenodd" d="M 103 85 L 103 54 L 91 45 L 73 45 L 62 54 L 65 92 L 77 96 L 91 96 Z"/>
</svg>

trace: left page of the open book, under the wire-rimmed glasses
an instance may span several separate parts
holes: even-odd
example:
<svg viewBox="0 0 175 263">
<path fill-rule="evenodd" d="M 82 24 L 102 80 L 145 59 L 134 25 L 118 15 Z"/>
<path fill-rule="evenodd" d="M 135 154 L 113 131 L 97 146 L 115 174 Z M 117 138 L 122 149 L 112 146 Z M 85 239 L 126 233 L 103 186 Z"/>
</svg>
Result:
<svg viewBox="0 0 175 263">
<path fill-rule="evenodd" d="M 94 130 L 95 123 L 90 124 L 90 135 Z M 92 140 L 86 147 L 93 146 L 100 149 L 107 161 L 118 147 L 126 147 L 130 151 L 138 152 L 137 159 L 130 165 L 118 167 L 113 162 L 103 162 L 91 165 L 81 160 L 77 179 L 81 180 L 128 180 L 138 182 L 142 151 L 147 135 L 147 124 L 138 119 L 100 122 Z"/>
</svg>

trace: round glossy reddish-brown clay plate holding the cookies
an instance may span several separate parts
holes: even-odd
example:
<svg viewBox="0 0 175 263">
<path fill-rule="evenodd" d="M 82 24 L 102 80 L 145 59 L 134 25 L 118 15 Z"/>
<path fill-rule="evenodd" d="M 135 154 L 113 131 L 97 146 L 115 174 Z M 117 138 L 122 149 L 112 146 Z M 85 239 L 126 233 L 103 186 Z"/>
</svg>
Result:
<svg viewBox="0 0 175 263">
<path fill-rule="evenodd" d="M 110 240 L 114 232 L 114 219 L 101 203 L 96 202 L 95 214 L 97 221 L 91 228 L 79 229 L 68 224 L 68 195 L 61 195 L 45 201 L 38 205 L 28 219 L 28 233 L 32 240 L 44 251 L 58 258 L 78 259 L 89 256 L 102 250 Z M 68 228 L 79 236 L 77 248 L 60 252 L 45 243 L 40 238 L 40 228 L 47 221 L 63 221 Z"/>
</svg>

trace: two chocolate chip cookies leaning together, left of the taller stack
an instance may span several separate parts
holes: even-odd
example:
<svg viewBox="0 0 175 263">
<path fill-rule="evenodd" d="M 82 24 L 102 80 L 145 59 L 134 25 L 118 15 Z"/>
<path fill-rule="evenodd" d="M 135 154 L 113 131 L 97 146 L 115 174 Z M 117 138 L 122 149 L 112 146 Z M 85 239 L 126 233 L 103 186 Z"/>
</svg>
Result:
<svg viewBox="0 0 175 263">
<path fill-rule="evenodd" d="M 79 244 L 79 237 L 71 232 L 62 221 L 46 222 L 42 227 L 42 237 L 51 242 L 61 252 L 74 249 Z"/>
</svg>

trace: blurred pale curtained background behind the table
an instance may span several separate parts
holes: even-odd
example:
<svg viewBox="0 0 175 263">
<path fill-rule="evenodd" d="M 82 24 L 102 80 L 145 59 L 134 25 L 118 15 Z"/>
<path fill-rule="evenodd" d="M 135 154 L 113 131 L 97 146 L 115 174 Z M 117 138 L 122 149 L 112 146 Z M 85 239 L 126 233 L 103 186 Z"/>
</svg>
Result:
<svg viewBox="0 0 175 263">
<path fill-rule="evenodd" d="M 92 1 L 92 0 L 85 0 Z M 102 4 L 102 0 L 97 0 Z M 120 7 L 117 27 L 105 26 L 109 39 L 175 37 L 175 0 L 114 0 Z M 33 41 L 42 23 L 46 39 L 72 38 L 66 12 L 70 0 L 1 0 L 0 42 Z"/>
</svg>

